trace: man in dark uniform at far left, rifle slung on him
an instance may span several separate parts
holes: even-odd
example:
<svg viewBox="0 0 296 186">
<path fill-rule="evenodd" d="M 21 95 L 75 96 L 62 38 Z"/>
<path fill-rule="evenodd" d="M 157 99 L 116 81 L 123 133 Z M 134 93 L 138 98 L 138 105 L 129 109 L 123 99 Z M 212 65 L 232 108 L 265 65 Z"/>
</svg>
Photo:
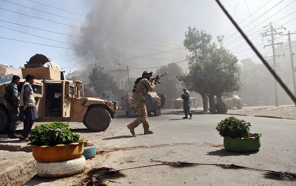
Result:
<svg viewBox="0 0 296 186">
<path fill-rule="evenodd" d="M 8 108 L 9 116 L 11 120 L 7 138 L 10 138 L 10 139 L 19 138 L 19 136 L 15 134 L 15 130 L 17 129 L 17 126 L 20 123 L 19 121 L 20 99 L 19 99 L 19 93 L 17 90 L 17 85 L 19 84 L 20 84 L 20 77 L 17 75 L 13 75 L 11 83 L 7 86 L 7 92 L 9 94 L 9 98 L 6 98 L 6 102 L 7 102 L 7 108 Z"/>
</svg>

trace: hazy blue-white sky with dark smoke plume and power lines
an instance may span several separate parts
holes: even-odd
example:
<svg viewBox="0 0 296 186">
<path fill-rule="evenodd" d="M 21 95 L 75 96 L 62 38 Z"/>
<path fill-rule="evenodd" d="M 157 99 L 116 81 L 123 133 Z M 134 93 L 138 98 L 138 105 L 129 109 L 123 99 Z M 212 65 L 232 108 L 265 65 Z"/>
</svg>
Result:
<svg viewBox="0 0 296 186">
<path fill-rule="evenodd" d="M 277 32 L 296 31 L 295 0 L 221 0 L 263 56 L 271 56 L 261 33 L 273 24 Z M 251 16 L 250 16 L 251 15 Z M 0 64 L 24 66 L 44 54 L 66 72 L 130 68 L 130 77 L 158 66 L 183 61 L 188 26 L 213 36 L 224 35 L 224 46 L 240 60 L 259 59 L 237 33 L 214 0 L 0 0 Z M 264 28 L 265 27 L 265 28 Z M 276 36 L 286 42 L 287 36 Z M 296 35 L 291 35 L 296 40 Z M 294 51 L 295 52 L 295 51 Z M 178 63 L 186 69 L 187 62 Z"/>
</svg>

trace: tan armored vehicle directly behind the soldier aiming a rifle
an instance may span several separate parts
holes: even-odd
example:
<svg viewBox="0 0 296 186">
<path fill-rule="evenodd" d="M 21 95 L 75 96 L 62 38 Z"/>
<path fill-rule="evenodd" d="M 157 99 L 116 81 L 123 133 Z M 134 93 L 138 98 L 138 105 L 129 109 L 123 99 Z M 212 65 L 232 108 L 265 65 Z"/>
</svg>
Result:
<svg viewBox="0 0 296 186">
<path fill-rule="evenodd" d="M 123 108 L 125 108 L 126 110 L 126 115 L 131 117 L 136 115 L 136 109 L 133 106 L 132 96 L 133 96 L 133 93 L 129 92 L 123 97 L 121 97 Z M 153 112 L 155 116 L 161 115 L 160 108 L 162 108 L 165 105 L 165 100 L 166 100 L 165 94 L 148 92 L 145 96 L 145 99 L 146 99 L 147 114 L 150 115 Z"/>
</svg>

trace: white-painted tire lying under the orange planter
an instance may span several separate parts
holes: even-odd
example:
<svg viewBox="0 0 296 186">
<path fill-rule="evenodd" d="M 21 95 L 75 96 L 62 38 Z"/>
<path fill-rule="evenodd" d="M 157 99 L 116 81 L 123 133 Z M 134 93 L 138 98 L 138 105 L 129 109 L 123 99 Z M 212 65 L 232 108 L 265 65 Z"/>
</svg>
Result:
<svg viewBox="0 0 296 186">
<path fill-rule="evenodd" d="M 67 161 L 39 162 L 37 161 L 36 170 L 40 177 L 68 177 L 79 174 L 85 169 L 85 158 L 71 159 Z"/>
</svg>

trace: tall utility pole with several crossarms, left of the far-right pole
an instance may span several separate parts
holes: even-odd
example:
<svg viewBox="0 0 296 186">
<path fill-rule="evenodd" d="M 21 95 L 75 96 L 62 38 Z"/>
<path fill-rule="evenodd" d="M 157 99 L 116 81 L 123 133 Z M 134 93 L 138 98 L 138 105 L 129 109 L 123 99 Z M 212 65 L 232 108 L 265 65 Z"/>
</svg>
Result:
<svg viewBox="0 0 296 186">
<path fill-rule="evenodd" d="M 283 32 L 279 32 L 279 33 L 276 33 L 276 30 L 278 29 L 282 29 L 282 27 L 280 28 L 277 28 L 277 29 L 274 29 L 274 27 L 271 25 L 271 22 L 270 22 L 270 31 L 268 32 L 271 32 L 271 34 L 267 34 L 266 32 L 262 35 L 263 37 L 265 36 L 271 36 L 271 45 L 264 45 L 264 47 L 266 46 L 272 46 L 272 56 L 269 56 L 269 57 L 272 57 L 273 58 L 273 62 L 274 62 L 274 72 L 276 72 L 276 56 L 275 56 L 275 51 L 274 51 L 274 45 L 277 45 L 277 44 L 283 44 L 283 42 L 281 43 L 274 43 L 274 35 L 276 34 L 281 34 Z M 278 93 L 278 87 L 277 87 L 277 81 L 276 79 L 274 80 L 274 88 L 275 88 L 275 96 L 276 96 L 276 107 L 279 106 L 279 93 Z"/>
</svg>

